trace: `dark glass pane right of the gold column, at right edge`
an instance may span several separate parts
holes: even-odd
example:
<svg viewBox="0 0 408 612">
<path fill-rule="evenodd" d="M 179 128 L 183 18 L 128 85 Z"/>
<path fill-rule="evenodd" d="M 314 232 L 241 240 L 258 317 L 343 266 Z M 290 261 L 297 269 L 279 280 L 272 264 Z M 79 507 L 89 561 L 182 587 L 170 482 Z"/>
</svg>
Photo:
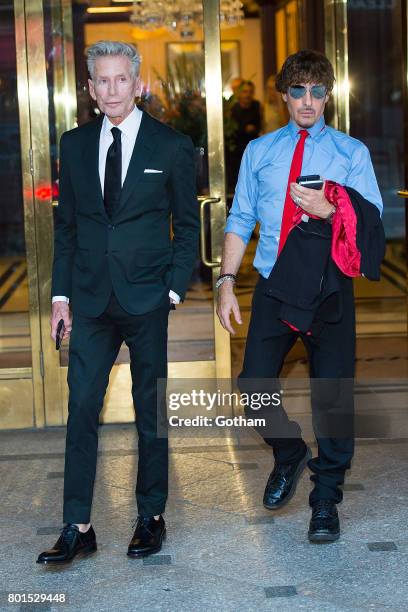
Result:
<svg viewBox="0 0 408 612">
<path fill-rule="evenodd" d="M 371 153 L 384 200 L 387 252 L 381 282 L 357 282 L 357 307 L 367 333 L 370 324 L 382 321 L 382 334 L 405 334 L 405 210 L 397 196 L 404 185 L 405 160 L 401 3 L 381 8 L 366 4 L 348 3 L 347 9 L 350 134 Z"/>
</svg>

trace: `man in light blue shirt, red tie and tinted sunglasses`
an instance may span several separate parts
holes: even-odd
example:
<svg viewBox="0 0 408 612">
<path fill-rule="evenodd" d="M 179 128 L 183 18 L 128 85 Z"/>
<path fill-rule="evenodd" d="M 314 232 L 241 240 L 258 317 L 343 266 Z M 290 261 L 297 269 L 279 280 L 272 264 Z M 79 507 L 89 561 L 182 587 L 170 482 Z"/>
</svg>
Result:
<svg viewBox="0 0 408 612">
<path fill-rule="evenodd" d="M 241 383 L 253 379 L 276 379 L 285 356 L 298 337 L 306 346 L 313 379 L 340 384 L 339 381 L 352 381 L 354 377 L 355 315 L 351 278 L 336 268 L 341 310 L 338 319 L 323 322 L 318 333 L 313 327 L 312 333 L 301 333 L 289 327 L 279 316 L 282 303 L 265 294 L 266 279 L 278 255 L 285 199 L 290 206 L 292 199 L 305 215 L 320 218 L 318 223 L 324 225 L 326 230 L 326 223 L 332 223 L 336 214 L 336 207 L 326 199 L 324 188 L 308 189 L 294 181 L 288 184 L 292 160 L 295 167 L 295 157 L 299 155 L 297 145 L 301 131 L 305 138 L 301 161 L 303 176 L 320 175 L 324 180 L 352 187 L 380 213 L 382 211 L 381 195 L 367 147 L 355 138 L 325 125 L 323 113 L 333 85 L 333 68 L 324 55 L 300 51 L 288 57 L 277 76 L 276 87 L 287 104 L 290 122 L 251 141 L 242 158 L 234 202 L 225 228 L 221 275 L 217 282 L 217 313 L 223 327 L 234 334 L 231 312 L 237 323 L 241 324 L 242 320 L 233 286 L 246 245 L 256 222 L 259 222 L 254 266 L 260 276 L 252 301 Z M 288 270 L 290 273 L 291 270 Z M 307 278 L 305 280 L 307 283 Z M 352 415 L 352 391 L 350 385 L 346 387 L 342 399 L 338 399 L 340 394 L 335 399 L 343 402 L 342 409 Z M 257 389 L 256 384 L 253 388 Z M 336 384 L 329 386 L 331 390 L 337 388 Z M 335 402 L 327 396 L 325 401 L 322 403 L 317 394 L 313 397 L 312 392 L 314 425 L 319 411 L 320 414 L 322 411 L 330 412 Z M 353 456 L 352 428 L 347 435 L 340 434 L 341 437 L 322 436 L 315 430 L 318 456 L 312 459 L 311 450 L 302 440 L 298 424 L 288 419 L 282 405 L 273 408 L 273 411 L 273 418 L 283 426 L 285 433 L 275 432 L 274 435 L 274 432 L 266 434 L 260 431 L 272 446 L 275 458 L 275 466 L 265 489 L 264 506 L 275 510 L 286 504 L 308 465 L 314 482 L 309 497 L 312 507 L 309 540 L 337 540 L 340 526 L 336 504 L 342 500 L 341 485 Z"/>
</svg>

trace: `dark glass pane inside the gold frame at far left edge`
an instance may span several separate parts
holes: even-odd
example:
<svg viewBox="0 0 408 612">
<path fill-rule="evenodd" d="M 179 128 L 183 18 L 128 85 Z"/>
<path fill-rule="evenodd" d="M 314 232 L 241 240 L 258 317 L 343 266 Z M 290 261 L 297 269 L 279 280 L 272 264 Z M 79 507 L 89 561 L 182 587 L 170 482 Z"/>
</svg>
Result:
<svg viewBox="0 0 408 612">
<path fill-rule="evenodd" d="M 0 368 L 31 366 L 13 3 L 0 19 Z"/>
</svg>

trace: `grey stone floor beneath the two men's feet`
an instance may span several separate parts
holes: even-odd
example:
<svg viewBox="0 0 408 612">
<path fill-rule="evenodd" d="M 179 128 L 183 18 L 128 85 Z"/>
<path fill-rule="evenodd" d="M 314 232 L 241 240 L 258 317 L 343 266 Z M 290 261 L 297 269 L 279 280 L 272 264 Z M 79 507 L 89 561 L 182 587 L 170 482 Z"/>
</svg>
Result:
<svg viewBox="0 0 408 612">
<path fill-rule="evenodd" d="M 135 429 L 103 426 L 98 552 L 53 569 L 35 559 L 61 527 L 64 435 L 0 433 L 0 610 L 406 611 L 407 440 L 357 442 L 339 505 L 341 539 L 312 545 L 308 473 L 290 504 L 270 513 L 261 499 L 272 458 L 254 433 L 172 438 L 168 537 L 158 555 L 135 560 L 125 554 L 136 512 Z M 8 604 L 10 593 L 64 594 L 66 603 Z"/>
</svg>

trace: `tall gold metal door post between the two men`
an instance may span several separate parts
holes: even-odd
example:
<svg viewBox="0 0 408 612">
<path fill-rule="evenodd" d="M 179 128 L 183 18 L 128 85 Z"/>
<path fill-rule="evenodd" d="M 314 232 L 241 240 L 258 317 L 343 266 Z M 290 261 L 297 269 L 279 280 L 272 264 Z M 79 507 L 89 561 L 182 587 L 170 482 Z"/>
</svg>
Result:
<svg viewBox="0 0 408 612">
<path fill-rule="evenodd" d="M 204 9 L 204 57 L 205 96 L 207 105 L 208 167 L 210 196 L 218 199 L 210 206 L 211 256 L 214 292 L 214 335 L 217 378 L 231 377 L 231 345 L 229 333 L 221 326 L 215 308 L 215 281 L 221 265 L 226 220 L 224 126 L 222 104 L 220 3 L 219 0 L 203 0 Z"/>
</svg>

